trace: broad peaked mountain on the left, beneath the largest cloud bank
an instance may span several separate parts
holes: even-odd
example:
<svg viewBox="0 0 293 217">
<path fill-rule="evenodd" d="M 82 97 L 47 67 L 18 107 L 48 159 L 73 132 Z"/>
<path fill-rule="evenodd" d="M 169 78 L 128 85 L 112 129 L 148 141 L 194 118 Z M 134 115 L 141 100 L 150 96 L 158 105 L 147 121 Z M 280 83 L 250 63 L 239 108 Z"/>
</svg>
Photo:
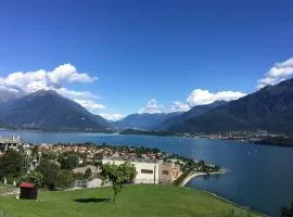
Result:
<svg viewBox="0 0 293 217">
<path fill-rule="evenodd" d="M 0 122 L 49 130 L 104 130 L 110 127 L 101 116 L 52 90 L 40 90 L 2 104 Z"/>
</svg>

